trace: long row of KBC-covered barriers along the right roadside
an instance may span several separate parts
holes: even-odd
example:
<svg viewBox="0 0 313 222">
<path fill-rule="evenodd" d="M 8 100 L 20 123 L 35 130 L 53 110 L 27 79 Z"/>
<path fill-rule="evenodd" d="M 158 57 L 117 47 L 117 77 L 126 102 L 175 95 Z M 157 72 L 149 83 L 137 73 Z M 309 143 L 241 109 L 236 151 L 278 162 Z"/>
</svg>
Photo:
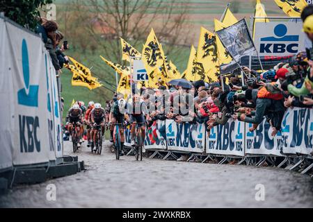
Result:
<svg viewBox="0 0 313 222">
<path fill-rule="evenodd" d="M 170 156 L 177 159 L 175 153 L 186 153 L 191 155 L 189 160 L 199 155 L 207 156 L 203 162 L 212 156 L 224 157 L 220 163 L 231 158 L 241 158 L 239 164 L 249 164 L 248 158 L 260 157 L 257 165 L 262 165 L 265 160 L 273 162 L 273 157 L 282 157 L 284 160 L 277 164 L 282 167 L 284 163 L 290 162 L 290 157 L 296 157 L 296 162 L 291 163 L 294 166 L 291 169 L 303 162 L 309 164 L 303 172 L 313 167 L 310 155 L 313 151 L 312 109 L 288 109 L 284 113 L 282 129 L 275 137 L 271 136 L 273 130 L 265 117 L 256 130 L 250 132 L 250 127 L 250 123 L 229 120 L 208 133 L 204 124 L 158 120 L 146 129 L 145 149 L 154 151 L 152 158 L 159 155 L 163 160 Z M 125 135 L 125 146 L 130 146 L 129 128 L 125 128 Z"/>
</svg>

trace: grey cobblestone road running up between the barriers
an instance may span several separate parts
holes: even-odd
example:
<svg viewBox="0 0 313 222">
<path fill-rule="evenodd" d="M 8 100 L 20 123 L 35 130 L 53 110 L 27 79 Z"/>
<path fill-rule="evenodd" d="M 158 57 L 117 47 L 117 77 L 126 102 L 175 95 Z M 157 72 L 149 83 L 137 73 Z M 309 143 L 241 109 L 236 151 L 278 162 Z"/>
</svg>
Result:
<svg viewBox="0 0 313 222">
<path fill-rule="evenodd" d="M 71 145 L 65 144 L 70 155 Z M 0 207 L 313 207 L 312 179 L 282 169 L 200 164 L 92 155 L 83 148 L 87 170 L 40 185 L 19 186 L 0 197 Z M 56 185 L 56 201 L 46 187 Z M 255 200 L 256 185 L 265 200 Z"/>
</svg>

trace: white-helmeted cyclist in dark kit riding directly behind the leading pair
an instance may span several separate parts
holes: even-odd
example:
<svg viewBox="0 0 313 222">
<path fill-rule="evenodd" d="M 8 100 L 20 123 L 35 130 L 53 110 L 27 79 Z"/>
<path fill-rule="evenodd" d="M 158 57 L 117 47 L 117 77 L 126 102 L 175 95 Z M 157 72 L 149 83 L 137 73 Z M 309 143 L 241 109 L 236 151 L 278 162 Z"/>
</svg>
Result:
<svg viewBox="0 0 313 222">
<path fill-rule="evenodd" d="M 95 108 L 90 113 L 91 124 L 93 126 L 93 142 L 91 143 L 91 147 L 93 151 L 97 151 L 95 146 L 95 142 L 97 139 L 97 130 L 94 128 L 97 125 L 101 125 L 102 135 L 104 135 L 104 121 L 105 121 L 106 111 L 102 108 L 100 103 L 95 103 Z"/>
</svg>

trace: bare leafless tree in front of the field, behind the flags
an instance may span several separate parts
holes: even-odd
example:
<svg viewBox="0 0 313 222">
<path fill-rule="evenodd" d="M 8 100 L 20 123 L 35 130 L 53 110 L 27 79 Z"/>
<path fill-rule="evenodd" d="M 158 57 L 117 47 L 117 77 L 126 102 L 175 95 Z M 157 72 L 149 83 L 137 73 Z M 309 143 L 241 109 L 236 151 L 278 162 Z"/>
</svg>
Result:
<svg viewBox="0 0 313 222">
<path fill-rule="evenodd" d="M 189 37 L 188 0 L 76 0 L 73 5 L 85 35 L 101 46 L 104 56 L 116 62 L 122 62 L 119 37 L 141 50 L 154 28 L 159 41 L 166 44 L 166 53 L 173 55 L 179 55 L 177 45 L 186 45 Z"/>
</svg>

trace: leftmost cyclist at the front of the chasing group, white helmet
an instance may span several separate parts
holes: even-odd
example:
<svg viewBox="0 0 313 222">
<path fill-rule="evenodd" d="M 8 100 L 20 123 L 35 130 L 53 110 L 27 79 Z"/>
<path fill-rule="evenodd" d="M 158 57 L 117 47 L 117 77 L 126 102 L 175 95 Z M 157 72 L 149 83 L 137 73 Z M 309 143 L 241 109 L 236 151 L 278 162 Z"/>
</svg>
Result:
<svg viewBox="0 0 313 222">
<path fill-rule="evenodd" d="M 67 112 L 66 116 L 67 126 L 68 130 L 70 131 L 70 135 L 72 135 L 73 132 L 73 125 L 75 124 L 77 126 L 77 137 L 81 138 L 81 134 L 83 133 L 83 111 L 81 108 L 79 108 L 78 104 L 74 104 L 70 110 Z M 77 147 L 81 146 L 81 142 L 77 144 Z"/>
</svg>

